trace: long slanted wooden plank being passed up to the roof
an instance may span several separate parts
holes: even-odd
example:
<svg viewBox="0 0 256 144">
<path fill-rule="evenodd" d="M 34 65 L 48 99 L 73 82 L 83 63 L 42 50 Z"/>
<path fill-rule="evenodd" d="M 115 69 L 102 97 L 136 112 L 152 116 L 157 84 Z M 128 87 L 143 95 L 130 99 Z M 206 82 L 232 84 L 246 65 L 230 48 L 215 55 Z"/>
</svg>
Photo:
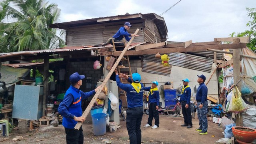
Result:
<svg viewBox="0 0 256 144">
<path fill-rule="evenodd" d="M 139 29 L 137 29 L 134 34 L 136 35 L 138 33 Z M 89 103 L 89 105 L 87 106 L 86 110 L 84 111 L 84 113 L 82 114 L 83 117 L 87 117 L 90 110 L 92 109 L 92 106 L 94 104 L 94 102 L 96 102 L 96 99 L 98 98 L 100 92 L 102 91 L 102 89 L 104 88 L 104 86 L 106 85 L 106 83 L 108 82 L 110 76 L 113 74 L 114 70 L 116 69 L 116 67 L 118 66 L 118 63 L 121 61 L 122 57 L 124 56 L 125 52 L 127 51 L 128 47 L 130 46 L 130 44 L 132 43 L 132 40 L 134 39 L 135 36 L 132 36 L 132 38 L 130 39 L 130 41 L 128 42 L 128 44 L 125 46 L 124 50 L 122 51 L 122 53 L 120 54 L 120 56 L 118 57 L 118 59 L 116 60 L 116 63 L 114 64 L 114 66 L 111 68 L 110 72 L 108 73 L 108 75 L 106 76 L 106 78 L 104 79 L 104 81 L 102 82 L 102 84 L 100 85 L 100 88 L 98 90 L 98 92 L 96 92 L 96 94 L 94 95 L 94 97 L 92 98 L 91 102 Z M 78 122 L 76 124 L 76 126 L 74 127 L 75 130 L 79 130 L 79 128 L 82 126 L 82 122 Z"/>
</svg>

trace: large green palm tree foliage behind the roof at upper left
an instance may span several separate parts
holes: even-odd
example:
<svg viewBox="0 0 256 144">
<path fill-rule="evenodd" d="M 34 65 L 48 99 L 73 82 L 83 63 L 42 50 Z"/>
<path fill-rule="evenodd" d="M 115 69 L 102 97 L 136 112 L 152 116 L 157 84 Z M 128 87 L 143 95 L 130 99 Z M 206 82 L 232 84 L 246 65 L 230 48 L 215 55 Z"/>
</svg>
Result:
<svg viewBox="0 0 256 144">
<path fill-rule="evenodd" d="M 13 6 L 10 6 L 12 3 Z M 2 52 L 52 49 L 64 46 L 61 35 L 50 24 L 57 23 L 60 9 L 44 0 L 3 0 L 0 13 Z M 7 22 L 3 22 L 7 20 Z M 59 36 L 57 36 L 59 34 Z"/>
</svg>

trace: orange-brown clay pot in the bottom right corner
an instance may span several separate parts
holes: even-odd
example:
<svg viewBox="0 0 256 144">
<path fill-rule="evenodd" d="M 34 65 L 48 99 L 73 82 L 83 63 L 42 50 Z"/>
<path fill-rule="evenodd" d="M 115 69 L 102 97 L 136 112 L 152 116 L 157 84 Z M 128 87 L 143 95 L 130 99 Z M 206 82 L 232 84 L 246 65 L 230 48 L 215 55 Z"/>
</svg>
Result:
<svg viewBox="0 0 256 144">
<path fill-rule="evenodd" d="M 242 130 L 238 130 L 238 129 L 242 129 Z M 244 131 L 244 130 L 250 130 L 248 131 Z M 236 138 L 236 140 L 241 141 L 241 142 L 252 142 L 255 140 L 256 138 L 256 130 L 252 129 L 252 128 L 247 128 L 247 127 L 242 127 L 242 126 L 234 126 L 232 127 L 232 132 L 234 134 L 234 137 Z"/>
</svg>

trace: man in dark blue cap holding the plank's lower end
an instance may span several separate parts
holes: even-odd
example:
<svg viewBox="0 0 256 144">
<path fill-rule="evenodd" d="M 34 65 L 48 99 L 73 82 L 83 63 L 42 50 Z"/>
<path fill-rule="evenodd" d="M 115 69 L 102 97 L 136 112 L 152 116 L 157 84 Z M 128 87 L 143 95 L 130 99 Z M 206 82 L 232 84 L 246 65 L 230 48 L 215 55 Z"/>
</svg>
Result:
<svg viewBox="0 0 256 144">
<path fill-rule="evenodd" d="M 62 125 L 66 132 L 67 144 L 83 144 L 84 134 L 82 126 L 79 130 L 74 130 L 77 122 L 84 122 L 85 117 L 82 116 L 82 99 L 86 99 L 89 96 L 95 94 L 99 87 L 90 92 L 82 92 L 79 90 L 82 86 L 82 79 L 84 75 L 80 75 L 77 72 L 71 74 L 69 81 L 71 86 L 66 91 L 63 101 L 58 107 L 58 112 L 63 116 Z"/>
</svg>

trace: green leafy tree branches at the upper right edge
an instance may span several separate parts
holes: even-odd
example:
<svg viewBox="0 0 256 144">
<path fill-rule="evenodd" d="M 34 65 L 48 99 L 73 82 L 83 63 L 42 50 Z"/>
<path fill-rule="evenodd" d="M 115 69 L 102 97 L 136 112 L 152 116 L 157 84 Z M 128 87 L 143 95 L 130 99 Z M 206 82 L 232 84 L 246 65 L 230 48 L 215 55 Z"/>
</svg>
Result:
<svg viewBox="0 0 256 144">
<path fill-rule="evenodd" d="M 244 32 L 233 32 L 230 34 L 232 37 L 242 37 L 242 36 L 250 36 L 251 41 L 249 44 L 247 44 L 247 47 L 256 52 L 256 8 L 246 8 L 246 11 L 248 12 L 247 15 L 252 20 L 249 21 L 246 26 L 250 27 L 250 30 L 246 30 Z"/>
</svg>

